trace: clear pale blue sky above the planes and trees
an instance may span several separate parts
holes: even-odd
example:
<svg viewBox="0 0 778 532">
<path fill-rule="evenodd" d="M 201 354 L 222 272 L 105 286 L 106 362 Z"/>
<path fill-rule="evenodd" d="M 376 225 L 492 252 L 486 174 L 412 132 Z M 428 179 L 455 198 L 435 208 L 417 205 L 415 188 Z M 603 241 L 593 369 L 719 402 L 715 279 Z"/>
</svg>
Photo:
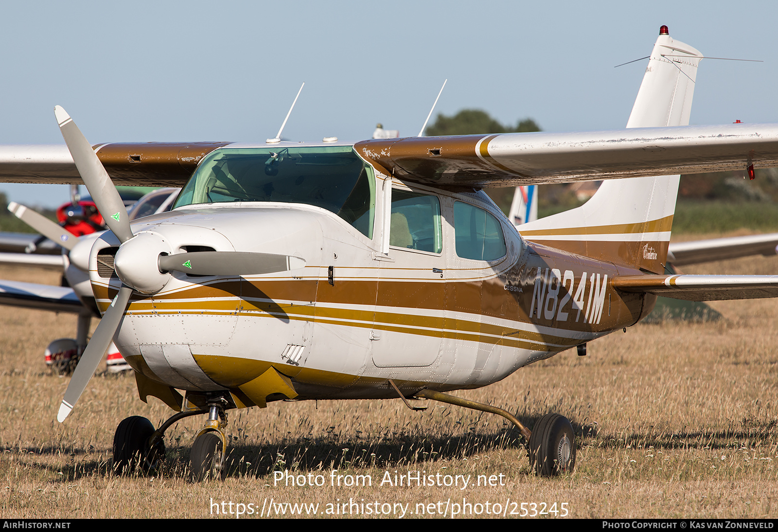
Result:
<svg viewBox="0 0 778 532">
<path fill-rule="evenodd" d="M 14 2 L 0 34 L 0 144 L 415 135 L 466 107 L 546 131 L 622 128 L 659 26 L 702 61 L 692 124 L 778 122 L 776 2 Z M 433 117 L 434 118 L 434 117 Z M 58 205 L 65 185 L 0 184 Z"/>
</svg>

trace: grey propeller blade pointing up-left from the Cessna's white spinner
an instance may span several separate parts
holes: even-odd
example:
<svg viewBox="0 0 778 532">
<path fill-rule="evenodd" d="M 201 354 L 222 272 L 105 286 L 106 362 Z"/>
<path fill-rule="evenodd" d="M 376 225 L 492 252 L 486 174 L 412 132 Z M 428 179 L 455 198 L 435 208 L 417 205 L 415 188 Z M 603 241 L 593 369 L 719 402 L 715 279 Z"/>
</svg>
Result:
<svg viewBox="0 0 778 532">
<path fill-rule="evenodd" d="M 124 208 L 124 201 L 121 201 L 119 192 L 108 177 L 103 163 L 100 163 L 92 146 L 64 109 L 59 106 L 54 107 L 54 116 L 57 117 L 59 130 L 65 138 L 75 167 L 79 169 L 81 178 L 84 180 L 86 190 L 92 196 L 108 228 L 122 243 L 130 240 L 133 235 L 127 209 Z"/>
</svg>

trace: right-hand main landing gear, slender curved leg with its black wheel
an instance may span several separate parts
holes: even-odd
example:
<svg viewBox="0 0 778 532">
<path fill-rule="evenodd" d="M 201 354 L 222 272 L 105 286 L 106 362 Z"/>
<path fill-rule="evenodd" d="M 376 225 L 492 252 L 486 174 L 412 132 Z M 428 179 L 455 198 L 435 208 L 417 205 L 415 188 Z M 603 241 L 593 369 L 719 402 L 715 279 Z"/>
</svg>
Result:
<svg viewBox="0 0 778 532">
<path fill-rule="evenodd" d="M 573 467 L 576 464 L 576 436 L 573 432 L 573 425 L 570 425 L 569 420 L 563 415 L 544 415 L 538 419 L 530 432 L 515 416 L 503 408 L 468 401 L 433 390 L 421 390 L 415 394 L 415 397 L 424 397 L 433 401 L 499 414 L 516 425 L 522 436 L 527 439 L 530 466 L 537 474 L 548 477 L 573 472 Z"/>
</svg>

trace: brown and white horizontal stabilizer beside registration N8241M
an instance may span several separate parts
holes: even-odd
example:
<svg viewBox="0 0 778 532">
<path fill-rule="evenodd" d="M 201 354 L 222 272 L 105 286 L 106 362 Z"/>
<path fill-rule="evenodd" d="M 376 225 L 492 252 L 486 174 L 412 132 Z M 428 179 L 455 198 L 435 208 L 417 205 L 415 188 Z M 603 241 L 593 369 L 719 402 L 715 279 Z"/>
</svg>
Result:
<svg viewBox="0 0 778 532">
<path fill-rule="evenodd" d="M 687 301 L 760 299 L 778 297 L 778 275 L 629 275 L 613 288 Z"/>
</svg>

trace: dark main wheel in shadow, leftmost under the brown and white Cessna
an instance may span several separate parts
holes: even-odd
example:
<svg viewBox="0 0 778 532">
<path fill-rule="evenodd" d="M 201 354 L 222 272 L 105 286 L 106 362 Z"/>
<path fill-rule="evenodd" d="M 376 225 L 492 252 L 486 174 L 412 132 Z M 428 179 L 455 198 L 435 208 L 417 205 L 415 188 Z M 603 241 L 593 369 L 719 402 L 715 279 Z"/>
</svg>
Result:
<svg viewBox="0 0 778 532">
<path fill-rule="evenodd" d="M 154 425 L 146 418 L 133 415 L 121 420 L 114 434 L 114 471 L 130 474 L 140 467 L 148 473 L 165 457 L 165 443 L 149 447 Z"/>
</svg>

